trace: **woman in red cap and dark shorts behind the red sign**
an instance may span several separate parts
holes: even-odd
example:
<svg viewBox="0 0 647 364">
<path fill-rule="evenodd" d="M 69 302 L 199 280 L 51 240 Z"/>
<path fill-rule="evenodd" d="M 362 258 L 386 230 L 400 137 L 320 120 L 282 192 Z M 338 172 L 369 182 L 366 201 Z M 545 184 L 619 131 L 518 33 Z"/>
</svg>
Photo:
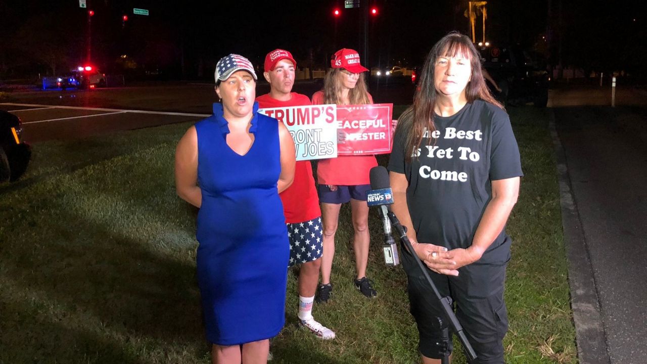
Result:
<svg viewBox="0 0 647 364">
<path fill-rule="evenodd" d="M 359 105 L 373 104 L 367 91 L 360 56 L 352 49 L 340 49 L 331 60 L 331 69 L 325 76 L 322 91 L 313 95 L 313 104 Z M 370 234 L 366 190 L 370 189 L 369 170 L 377 166 L 374 155 L 342 155 L 322 159 L 317 166 L 319 200 L 323 218 L 322 282 L 317 290 L 317 302 L 330 298 L 330 282 L 334 257 L 334 235 L 337 231 L 342 203 L 351 203 L 353 215 L 353 250 L 357 276 L 355 287 L 366 297 L 377 296 L 371 280 L 366 278 Z"/>
</svg>

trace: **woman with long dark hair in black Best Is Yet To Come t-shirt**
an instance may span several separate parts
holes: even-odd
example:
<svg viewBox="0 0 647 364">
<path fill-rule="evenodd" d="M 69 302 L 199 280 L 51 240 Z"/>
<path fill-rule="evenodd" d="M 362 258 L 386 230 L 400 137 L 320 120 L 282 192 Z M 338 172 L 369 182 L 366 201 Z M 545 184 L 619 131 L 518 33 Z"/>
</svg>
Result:
<svg viewBox="0 0 647 364">
<path fill-rule="evenodd" d="M 488 91 L 479 54 L 457 32 L 426 58 L 413 106 L 400 117 L 389 161 L 393 211 L 477 354 L 503 363 L 503 302 L 521 163 L 507 113 Z M 414 255 L 402 252 L 423 363 L 440 363 L 437 319 L 444 318 Z M 446 326 L 446 324 L 444 324 Z"/>
</svg>

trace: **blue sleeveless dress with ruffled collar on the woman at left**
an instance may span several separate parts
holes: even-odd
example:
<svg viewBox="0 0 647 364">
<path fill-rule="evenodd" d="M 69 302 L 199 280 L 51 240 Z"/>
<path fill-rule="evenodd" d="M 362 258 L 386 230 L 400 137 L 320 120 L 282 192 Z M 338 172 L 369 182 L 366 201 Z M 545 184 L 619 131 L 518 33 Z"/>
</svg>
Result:
<svg viewBox="0 0 647 364">
<path fill-rule="evenodd" d="M 198 183 L 197 279 L 206 338 L 237 345 L 276 336 L 285 323 L 289 240 L 276 183 L 281 173 L 278 121 L 254 104 L 245 155 L 226 143 L 222 104 L 195 124 Z"/>
</svg>

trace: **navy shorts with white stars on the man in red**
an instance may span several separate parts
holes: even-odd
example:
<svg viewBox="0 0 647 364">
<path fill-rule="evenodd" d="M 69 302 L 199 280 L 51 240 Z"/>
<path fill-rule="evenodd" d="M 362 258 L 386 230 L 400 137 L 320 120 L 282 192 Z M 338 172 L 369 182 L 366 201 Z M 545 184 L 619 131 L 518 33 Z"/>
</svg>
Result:
<svg viewBox="0 0 647 364">
<path fill-rule="evenodd" d="M 290 262 L 288 266 L 317 260 L 322 256 L 322 218 L 307 222 L 286 223 L 287 236 L 290 239 Z"/>
</svg>

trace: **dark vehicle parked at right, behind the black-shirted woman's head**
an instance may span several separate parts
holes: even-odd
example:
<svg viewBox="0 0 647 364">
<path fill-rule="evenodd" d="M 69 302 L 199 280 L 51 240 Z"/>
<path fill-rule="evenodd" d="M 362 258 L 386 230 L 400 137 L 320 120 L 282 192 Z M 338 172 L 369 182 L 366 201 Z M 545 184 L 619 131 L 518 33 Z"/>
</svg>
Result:
<svg viewBox="0 0 647 364">
<path fill-rule="evenodd" d="M 481 62 L 501 91 L 486 82 L 503 104 L 525 104 L 545 107 L 548 102 L 548 73 L 540 58 L 518 47 L 477 46 Z"/>
</svg>

